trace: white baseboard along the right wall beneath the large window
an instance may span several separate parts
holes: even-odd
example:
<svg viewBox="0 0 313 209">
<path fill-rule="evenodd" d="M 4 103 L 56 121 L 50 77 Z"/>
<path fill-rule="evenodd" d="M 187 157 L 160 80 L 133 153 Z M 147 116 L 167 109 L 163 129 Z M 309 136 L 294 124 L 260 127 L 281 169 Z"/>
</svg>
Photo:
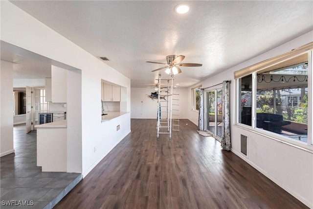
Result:
<svg viewBox="0 0 313 209">
<path fill-rule="evenodd" d="M 296 199 L 298 199 L 300 202 L 302 202 L 303 204 L 305 204 L 306 206 L 308 206 L 310 209 L 313 208 L 313 203 L 304 199 L 301 195 L 299 195 L 298 193 L 296 193 L 295 191 L 293 191 L 291 188 L 289 188 L 287 185 L 283 184 L 282 182 L 280 182 L 279 180 L 277 180 L 276 178 L 274 178 L 273 176 L 271 176 L 270 174 L 268 174 L 265 170 L 263 170 L 262 168 L 260 168 L 259 166 L 257 166 L 256 164 L 252 163 L 251 161 L 249 161 L 248 158 L 246 158 L 246 156 L 243 156 L 242 154 L 240 154 L 239 152 L 231 149 L 231 152 L 233 152 L 235 155 L 237 155 L 238 157 L 240 157 L 241 159 L 243 159 L 246 163 L 248 163 L 249 165 L 251 165 L 252 167 L 254 167 L 255 169 L 257 169 L 260 173 L 262 173 L 264 176 L 268 177 L 268 179 L 270 179 L 272 182 L 274 182 L 276 185 L 282 187 L 285 191 L 287 191 L 288 193 L 290 193 L 293 197 L 295 197 Z"/>
</svg>

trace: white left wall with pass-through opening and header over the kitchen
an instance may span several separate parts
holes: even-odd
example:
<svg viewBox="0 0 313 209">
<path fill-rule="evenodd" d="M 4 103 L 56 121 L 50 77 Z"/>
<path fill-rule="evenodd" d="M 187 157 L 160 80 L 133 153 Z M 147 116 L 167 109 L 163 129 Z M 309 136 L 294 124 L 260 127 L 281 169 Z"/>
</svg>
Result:
<svg viewBox="0 0 313 209">
<path fill-rule="evenodd" d="M 112 127 L 109 125 L 101 125 L 101 79 L 127 88 L 126 111 L 128 112 L 130 111 L 130 79 L 70 42 L 45 24 L 28 15 L 12 3 L 0 1 L 0 4 L 2 41 L 45 56 L 54 63 L 64 63 L 82 70 L 82 110 L 76 114 L 81 114 L 82 117 L 82 140 L 79 143 L 81 143 L 82 147 L 81 172 L 86 176 L 96 163 L 101 160 L 99 158 L 103 158 L 117 141 L 123 139 L 123 137 L 130 132 L 130 125 L 125 125 L 121 127 L 121 132 L 119 132 L 123 134 L 114 135 L 114 139 L 107 138 L 106 135 L 103 135 L 103 133 L 112 131 L 109 130 Z M 21 34 L 23 35 L 21 36 Z M 67 111 L 69 111 L 69 104 Z M 130 114 L 125 117 L 130 118 L 129 115 Z M 13 117 L 11 118 L 11 124 L 13 126 Z M 125 121 L 129 121 L 129 119 L 124 119 Z M 69 118 L 67 126 L 71 126 Z M 77 124 L 74 124 L 74 126 L 77 126 Z M 102 140 L 103 143 L 100 143 Z M 114 143 L 112 143 L 112 141 Z M 97 147 L 96 152 L 94 152 L 94 147 Z M 77 161 L 80 160 L 81 159 L 77 159 Z"/>
</svg>

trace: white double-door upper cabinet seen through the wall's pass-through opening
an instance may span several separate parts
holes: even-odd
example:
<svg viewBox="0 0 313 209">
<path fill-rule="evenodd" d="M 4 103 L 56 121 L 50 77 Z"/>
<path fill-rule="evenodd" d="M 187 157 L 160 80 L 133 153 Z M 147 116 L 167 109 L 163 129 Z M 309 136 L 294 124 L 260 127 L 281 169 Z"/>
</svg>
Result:
<svg viewBox="0 0 313 209">
<path fill-rule="evenodd" d="M 101 99 L 104 102 L 119 102 L 121 101 L 121 87 L 109 83 L 101 83 L 102 95 Z"/>
</svg>

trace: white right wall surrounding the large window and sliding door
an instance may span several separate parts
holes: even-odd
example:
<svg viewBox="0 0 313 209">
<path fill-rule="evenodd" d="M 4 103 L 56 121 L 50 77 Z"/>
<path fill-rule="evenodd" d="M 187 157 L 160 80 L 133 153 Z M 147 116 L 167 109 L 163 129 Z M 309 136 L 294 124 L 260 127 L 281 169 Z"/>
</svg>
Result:
<svg viewBox="0 0 313 209">
<path fill-rule="evenodd" d="M 284 45 L 278 46 L 264 54 L 250 59 L 240 65 L 228 69 L 218 75 L 204 80 L 202 88 L 214 86 L 222 83 L 223 80 L 231 80 L 230 83 L 230 110 L 231 116 L 231 143 L 232 152 L 251 164 L 269 179 L 281 186 L 308 207 L 313 208 L 313 152 L 312 146 L 307 145 L 307 149 L 296 148 L 295 146 L 279 142 L 274 139 L 253 133 L 251 130 L 235 126 L 234 106 L 236 90 L 234 88 L 233 73 L 266 59 L 275 57 L 284 52 L 290 51 L 298 46 L 305 45 L 313 41 L 313 31 L 306 33 Z M 194 85 L 194 86 L 198 86 Z M 191 87 L 192 88 L 192 87 Z M 191 90 L 190 88 L 190 90 Z M 191 103 L 191 95 L 189 97 Z M 198 125 L 196 119 L 198 114 L 189 111 L 189 119 Z M 240 135 L 248 138 L 248 155 L 244 156 L 240 149 Z M 300 143 L 300 142 L 298 142 Z"/>
</svg>

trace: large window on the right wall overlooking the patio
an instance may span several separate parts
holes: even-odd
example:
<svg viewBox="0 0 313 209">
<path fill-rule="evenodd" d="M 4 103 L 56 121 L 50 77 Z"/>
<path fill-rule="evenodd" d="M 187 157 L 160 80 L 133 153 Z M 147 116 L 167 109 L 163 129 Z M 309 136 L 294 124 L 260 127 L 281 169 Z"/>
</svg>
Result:
<svg viewBox="0 0 313 209">
<path fill-rule="evenodd" d="M 243 69 L 245 72 L 235 72 L 235 78 L 236 73 L 237 77 L 238 73 L 242 76 L 238 78 L 238 123 L 313 144 L 308 141 L 308 124 L 311 124 L 308 115 L 312 111 L 308 108 L 312 95 L 308 88 L 312 74 L 309 56 L 312 51 L 270 63 L 268 67 L 259 63 Z M 263 66 L 258 68 L 258 65 Z"/>
</svg>

